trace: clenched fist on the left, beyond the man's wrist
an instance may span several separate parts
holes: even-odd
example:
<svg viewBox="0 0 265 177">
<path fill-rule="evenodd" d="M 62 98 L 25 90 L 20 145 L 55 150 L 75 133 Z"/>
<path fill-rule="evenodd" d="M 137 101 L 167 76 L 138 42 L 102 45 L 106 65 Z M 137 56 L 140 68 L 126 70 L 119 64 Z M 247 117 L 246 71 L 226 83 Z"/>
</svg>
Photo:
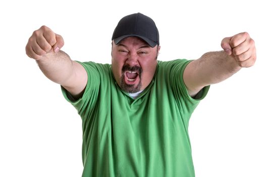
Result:
<svg viewBox="0 0 265 177">
<path fill-rule="evenodd" d="M 48 53 L 57 53 L 63 46 L 64 39 L 61 35 L 46 26 L 41 26 L 29 38 L 26 54 L 30 58 L 39 60 Z"/>
</svg>

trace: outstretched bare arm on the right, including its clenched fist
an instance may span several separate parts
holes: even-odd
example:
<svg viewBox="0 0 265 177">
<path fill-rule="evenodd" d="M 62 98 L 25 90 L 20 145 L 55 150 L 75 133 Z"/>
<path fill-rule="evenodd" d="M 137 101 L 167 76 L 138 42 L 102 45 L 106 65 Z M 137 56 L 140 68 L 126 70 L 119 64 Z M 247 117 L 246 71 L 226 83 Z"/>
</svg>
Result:
<svg viewBox="0 0 265 177">
<path fill-rule="evenodd" d="M 195 96 L 206 85 L 229 78 L 242 67 L 254 65 L 255 44 L 247 32 L 224 38 L 221 46 L 224 51 L 208 52 L 185 68 L 183 79 L 190 96 Z"/>
</svg>

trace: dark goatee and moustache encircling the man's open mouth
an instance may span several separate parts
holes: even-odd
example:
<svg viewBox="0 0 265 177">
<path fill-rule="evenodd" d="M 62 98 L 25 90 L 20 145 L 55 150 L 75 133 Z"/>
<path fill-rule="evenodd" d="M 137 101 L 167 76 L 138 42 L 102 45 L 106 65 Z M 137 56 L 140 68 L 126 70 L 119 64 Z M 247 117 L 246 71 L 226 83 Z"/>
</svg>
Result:
<svg viewBox="0 0 265 177">
<path fill-rule="evenodd" d="M 135 71 L 139 75 L 139 82 L 138 84 L 127 84 L 125 83 L 125 71 Z M 122 76 L 121 76 L 121 89 L 125 92 L 128 93 L 136 93 L 139 92 L 142 86 L 142 79 L 141 79 L 141 74 L 142 74 L 142 68 L 139 66 L 133 66 L 130 67 L 129 65 L 124 65 L 122 67 Z"/>
</svg>

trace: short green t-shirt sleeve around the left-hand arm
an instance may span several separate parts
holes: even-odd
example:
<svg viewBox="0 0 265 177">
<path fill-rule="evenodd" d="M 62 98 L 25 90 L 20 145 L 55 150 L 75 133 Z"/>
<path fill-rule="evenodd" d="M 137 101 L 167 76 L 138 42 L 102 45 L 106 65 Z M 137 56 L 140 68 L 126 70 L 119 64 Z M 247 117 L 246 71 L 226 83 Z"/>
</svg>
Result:
<svg viewBox="0 0 265 177">
<path fill-rule="evenodd" d="M 89 116 L 89 111 L 92 110 L 93 106 L 96 103 L 96 100 L 98 98 L 100 79 L 96 63 L 78 63 L 80 63 L 87 72 L 87 84 L 83 96 L 78 100 L 75 100 L 63 86 L 61 86 L 61 89 L 65 99 L 77 109 L 78 114 L 83 119 L 84 117 Z"/>
</svg>

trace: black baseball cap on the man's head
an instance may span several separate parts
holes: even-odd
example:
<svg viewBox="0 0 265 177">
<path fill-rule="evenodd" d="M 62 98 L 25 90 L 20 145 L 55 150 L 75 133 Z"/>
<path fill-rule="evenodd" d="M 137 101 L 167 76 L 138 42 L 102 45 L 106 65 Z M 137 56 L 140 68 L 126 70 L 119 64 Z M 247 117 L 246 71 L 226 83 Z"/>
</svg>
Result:
<svg viewBox="0 0 265 177">
<path fill-rule="evenodd" d="M 159 46 L 159 33 L 154 21 L 141 13 L 123 17 L 113 32 L 112 40 L 118 45 L 122 39 L 129 36 L 140 37 L 152 48 Z"/>
</svg>

